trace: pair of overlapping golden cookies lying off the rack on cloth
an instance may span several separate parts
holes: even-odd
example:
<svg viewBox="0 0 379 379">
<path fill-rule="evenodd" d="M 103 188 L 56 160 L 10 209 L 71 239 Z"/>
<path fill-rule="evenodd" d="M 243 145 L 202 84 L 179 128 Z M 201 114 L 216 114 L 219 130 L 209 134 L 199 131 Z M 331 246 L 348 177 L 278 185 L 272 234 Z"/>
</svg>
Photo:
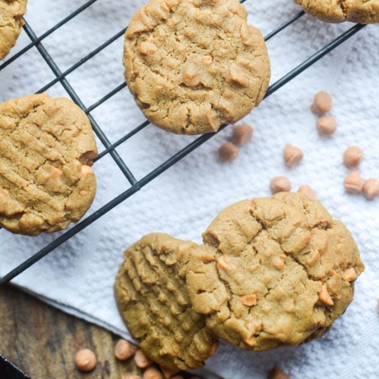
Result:
<svg viewBox="0 0 379 379">
<path fill-rule="evenodd" d="M 167 369 L 201 367 L 221 338 L 252 351 L 318 338 L 362 273 L 348 229 L 303 194 L 241 201 L 203 234 L 166 234 L 125 252 L 115 294 L 130 334 Z"/>
</svg>

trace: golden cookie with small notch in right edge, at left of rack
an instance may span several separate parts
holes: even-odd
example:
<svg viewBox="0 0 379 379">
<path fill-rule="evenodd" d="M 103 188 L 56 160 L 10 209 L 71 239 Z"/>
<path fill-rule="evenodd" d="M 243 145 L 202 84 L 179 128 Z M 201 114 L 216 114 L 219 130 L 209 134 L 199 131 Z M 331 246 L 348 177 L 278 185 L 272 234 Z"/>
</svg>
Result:
<svg viewBox="0 0 379 379">
<path fill-rule="evenodd" d="M 0 226 L 37 236 L 79 221 L 96 194 L 85 113 L 48 94 L 0 104 Z"/>
</svg>

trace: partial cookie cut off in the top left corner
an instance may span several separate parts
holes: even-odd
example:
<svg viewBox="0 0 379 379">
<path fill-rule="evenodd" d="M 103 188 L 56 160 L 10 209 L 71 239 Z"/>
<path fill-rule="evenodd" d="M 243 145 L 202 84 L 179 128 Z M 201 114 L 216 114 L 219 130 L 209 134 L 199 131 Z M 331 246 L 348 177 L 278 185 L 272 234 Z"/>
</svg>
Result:
<svg viewBox="0 0 379 379">
<path fill-rule="evenodd" d="M 27 0 L 0 0 L 0 61 L 16 44 L 23 25 Z"/>
</svg>

